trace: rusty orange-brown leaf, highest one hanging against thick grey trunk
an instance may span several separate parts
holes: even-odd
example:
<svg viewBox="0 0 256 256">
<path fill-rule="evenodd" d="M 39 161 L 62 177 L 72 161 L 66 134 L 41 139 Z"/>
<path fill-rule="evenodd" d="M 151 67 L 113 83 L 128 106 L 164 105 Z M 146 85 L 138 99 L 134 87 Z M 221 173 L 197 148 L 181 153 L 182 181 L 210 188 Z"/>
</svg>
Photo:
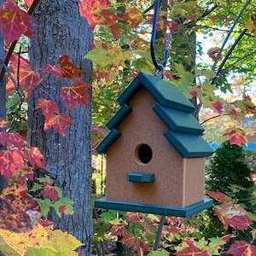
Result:
<svg viewBox="0 0 256 256">
<path fill-rule="evenodd" d="M 62 78 L 75 79 L 79 73 L 83 73 L 83 70 L 79 69 L 75 64 L 68 61 L 69 55 L 61 55 L 58 59 L 58 64 L 61 67 Z"/>
</svg>

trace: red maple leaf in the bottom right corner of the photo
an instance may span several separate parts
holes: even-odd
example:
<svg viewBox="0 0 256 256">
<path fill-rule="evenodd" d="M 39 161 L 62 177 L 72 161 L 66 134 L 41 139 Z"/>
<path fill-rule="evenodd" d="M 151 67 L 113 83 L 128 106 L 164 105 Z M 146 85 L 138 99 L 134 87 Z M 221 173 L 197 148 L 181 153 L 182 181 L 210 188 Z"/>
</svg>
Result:
<svg viewBox="0 0 256 256">
<path fill-rule="evenodd" d="M 231 254 L 233 256 L 253 256 L 256 255 L 256 246 L 243 240 L 235 241 L 234 244 L 231 245 L 227 254 Z"/>
</svg>

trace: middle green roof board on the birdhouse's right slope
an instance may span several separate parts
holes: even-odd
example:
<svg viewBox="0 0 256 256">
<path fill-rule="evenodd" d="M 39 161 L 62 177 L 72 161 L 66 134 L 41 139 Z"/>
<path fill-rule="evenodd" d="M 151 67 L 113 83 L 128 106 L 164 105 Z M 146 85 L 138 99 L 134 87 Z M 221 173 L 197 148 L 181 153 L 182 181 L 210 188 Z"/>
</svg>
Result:
<svg viewBox="0 0 256 256">
<path fill-rule="evenodd" d="M 191 113 L 162 107 L 159 103 L 155 103 L 152 108 L 171 131 L 191 134 L 201 134 L 205 131 Z"/>
</svg>

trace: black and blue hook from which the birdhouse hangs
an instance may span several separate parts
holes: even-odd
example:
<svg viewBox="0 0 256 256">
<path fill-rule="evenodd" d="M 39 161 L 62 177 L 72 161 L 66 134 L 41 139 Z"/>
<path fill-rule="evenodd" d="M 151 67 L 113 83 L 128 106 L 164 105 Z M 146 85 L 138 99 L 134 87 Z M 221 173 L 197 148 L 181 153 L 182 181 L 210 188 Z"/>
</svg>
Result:
<svg viewBox="0 0 256 256">
<path fill-rule="evenodd" d="M 156 29 L 157 29 L 157 19 L 158 19 L 158 13 L 160 8 L 160 0 L 155 0 L 154 2 L 154 18 L 153 18 L 153 26 L 152 26 L 152 33 L 151 33 L 151 40 L 150 40 L 150 52 L 151 52 L 151 58 L 154 64 L 154 74 L 156 76 L 162 76 L 166 67 L 166 62 L 168 59 L 168 49 L 165 49 L 164 54 L 164 62 L 163 64 L 157 63 L 155 59 L 154 54 L 154 40 L 156 36 Z"/>
</svg>

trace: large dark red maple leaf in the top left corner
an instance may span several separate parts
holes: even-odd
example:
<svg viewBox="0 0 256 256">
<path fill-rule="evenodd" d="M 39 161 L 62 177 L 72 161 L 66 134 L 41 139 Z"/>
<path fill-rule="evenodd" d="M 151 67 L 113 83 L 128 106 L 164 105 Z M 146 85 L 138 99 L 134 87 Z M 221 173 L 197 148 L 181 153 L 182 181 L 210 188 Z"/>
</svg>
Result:
<svg viewBox="0 0 256 256">
<path fill-rule="evenodd" d="M 13 1 L 3 2 L 0 6 L 0 26 L 7 45 L 19 40 L 23 33 L 32 38 L 32 16 Z"/>
</svg>

